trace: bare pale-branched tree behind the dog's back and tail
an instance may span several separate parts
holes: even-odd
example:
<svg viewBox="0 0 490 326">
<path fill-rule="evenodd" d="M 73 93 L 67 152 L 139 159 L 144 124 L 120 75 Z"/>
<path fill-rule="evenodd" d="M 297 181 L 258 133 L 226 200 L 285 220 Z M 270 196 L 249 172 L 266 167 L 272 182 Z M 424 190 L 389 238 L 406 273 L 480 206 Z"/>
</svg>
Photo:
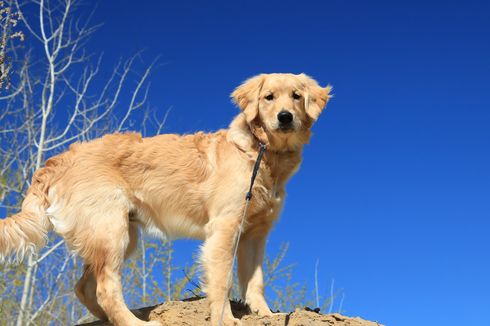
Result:
<svg viewBox="0 0 490 326">
<path fill-rule="evenodd" d="M 85 52 L 86 41 L 97 26 L 90 25 L 90 17 L 80 15 L 76 1 L 6 1 L 6 8 L 1 12 L 1 55 L 11 58 L 9 67 L 15 66 L 11 70 L 12 87 L 0 93 L 0 200 L 5 212 L 10 212 L 17 208 L 33 172 L 46 157 L 65 150 L 72 142 L 123 131 L 138 119 L 147 125 L 145 131 L 154 123 L 159 132 L 166 116 L 157 119 L 155 114 L 134 115 L 137 111 L 149 112 L 149 77 L 155 62 L 143 67 L 141 74 L 136 73 L 142 65 L 138 53 L 117 62 L 108 79 L 99 78 L 102 56 Z M 13 43 L 16 34 L 10 32 L 15 26 L 12 10 L 25 32 L 24 47 Z M 7 71 L 4 63 L 2 76 Z M 130 94 L 129 99 L 123 101 L 122 94 Z M 44 264 L 53 260 L 56 265 Z M 65 270 L 74 265 L 76 259 L 57 238 L 39 255 L 29 255 L 25 267 L 3 271 L 8 274 L 15 270 L 16 276 L 23 275 L 21 291 L 18 286 L 13 292 L 20 296 L 17 313 L 13 314 L 16 325 L 36 321 L 50 311 L 48 308 L 59 301 L 60 295 L 66 295 L 60 292 L 67 290 L 63 286 L 48 286 L 36 292 L 36 285 L 41 281 L 63 284 Z M 61 269 L 54 271 L 53 266 Z M 41 275 L 46 272 L 55 273 L 49 273 L 48 279 Z M 5 284 L 3 289 L 13 290 Z"/>
</svg>

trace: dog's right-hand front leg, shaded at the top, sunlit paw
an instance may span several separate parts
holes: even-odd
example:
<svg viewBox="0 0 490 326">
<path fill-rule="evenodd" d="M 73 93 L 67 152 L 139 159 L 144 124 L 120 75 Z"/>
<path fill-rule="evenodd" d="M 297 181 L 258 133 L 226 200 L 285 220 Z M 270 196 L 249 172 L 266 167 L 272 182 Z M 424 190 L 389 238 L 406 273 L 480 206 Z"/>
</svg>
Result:
<svg viewBox="0 0 490 326">
<path fill-rule="evenodd" d="M 272 315 L 264 298 L 262 262 L 266 236 L 266 234 L 245 235 L 238 247 L 238 278 L 242 297 L 252 313 L 259 316 Z"/>
</svg>

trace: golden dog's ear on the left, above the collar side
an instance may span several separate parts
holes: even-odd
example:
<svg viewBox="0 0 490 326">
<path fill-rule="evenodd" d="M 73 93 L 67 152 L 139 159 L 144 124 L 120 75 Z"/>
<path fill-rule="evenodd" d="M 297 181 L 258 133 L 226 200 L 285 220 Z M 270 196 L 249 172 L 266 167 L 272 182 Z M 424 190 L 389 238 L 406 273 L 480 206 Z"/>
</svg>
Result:
<svg viewBox="0 0 490 326">
<path fill-rule="evenodd" d="M 231 93 L 233 102 L 245 113 L 245 118 L 249 123 L 259 113 L 259 94 L 264 80 L 264 74 L 252 77 Z"/>
</svg>

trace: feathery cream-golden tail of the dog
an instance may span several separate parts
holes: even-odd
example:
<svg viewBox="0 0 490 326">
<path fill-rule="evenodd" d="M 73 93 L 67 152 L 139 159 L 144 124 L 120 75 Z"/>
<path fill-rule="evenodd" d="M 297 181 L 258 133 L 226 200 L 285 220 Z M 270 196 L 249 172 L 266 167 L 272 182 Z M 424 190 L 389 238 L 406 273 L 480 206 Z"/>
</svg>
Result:
<svg viewBox="0 0 490 326">
<path fill-rule="evenodd" d="M 22 210 L 0 219 L 0 261 L 13 259 L 19 262 L 26 254 L 46 244 L 48 232 L 52 229 L 46 214 L 49 206 L 47 193 L 52 179 L 52 167 L 37 170 L 22 203 Z"/>
</svg>

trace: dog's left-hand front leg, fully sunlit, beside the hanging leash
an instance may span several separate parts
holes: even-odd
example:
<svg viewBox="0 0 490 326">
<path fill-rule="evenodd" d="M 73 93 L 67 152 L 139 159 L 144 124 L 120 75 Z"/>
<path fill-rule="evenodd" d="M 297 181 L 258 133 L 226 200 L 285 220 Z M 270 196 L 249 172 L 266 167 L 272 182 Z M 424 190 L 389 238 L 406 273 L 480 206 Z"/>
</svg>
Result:
<svg viewBox="0 0 490 326">
<path fill-rule="evenodd" d="M 206 225 L 206 240 L 202 249 L 205 289 L 211 309 L 211 324 L 240 325 L 233 317 L 228 300 L 228 281 L 233 261 L 233 247 L 240 220 L 236 217 L 214 218 Z"/>
</svg>

